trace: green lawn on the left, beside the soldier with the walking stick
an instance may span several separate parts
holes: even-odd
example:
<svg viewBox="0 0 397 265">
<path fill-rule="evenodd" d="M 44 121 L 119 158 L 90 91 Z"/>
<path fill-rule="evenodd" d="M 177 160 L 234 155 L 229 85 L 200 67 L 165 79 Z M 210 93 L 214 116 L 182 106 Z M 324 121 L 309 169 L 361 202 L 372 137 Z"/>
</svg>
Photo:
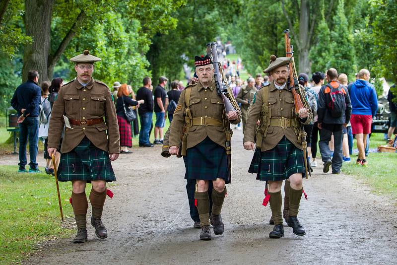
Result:
<svg viewBox="0 0 397 265">
<path fill-rule="evenodd" d="M 20 262 L 35 251 L 37 242 L 67 238 L 74 231 L 61 226 L 54 177 L 17 170 L 17 166 L 0 166 L 0 264 Z M 68 202 L 71 185 L 59 185 L 68 220 L 73 217 Z"/>
</svg>

